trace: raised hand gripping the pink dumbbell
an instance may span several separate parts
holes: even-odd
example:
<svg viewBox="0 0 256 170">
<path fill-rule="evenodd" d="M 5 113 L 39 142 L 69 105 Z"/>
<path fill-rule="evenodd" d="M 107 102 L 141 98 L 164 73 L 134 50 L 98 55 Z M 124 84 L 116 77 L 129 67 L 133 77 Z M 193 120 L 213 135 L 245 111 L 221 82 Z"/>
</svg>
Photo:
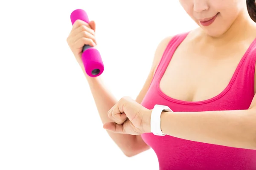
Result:
<svg viewBox="0 0 256 170">
<path fill-rule="evenodd" d="M 82 20 L 76 20 L 69 36 L 67 37 L 67 43 L 83 71 L 84 64 L 81 59 L 82 49 L 84 45 L 90 45 L 92 47 L 97 45 L 95 28 L 96 25 L 94 21 L 86 23 Z"/>
</svg>

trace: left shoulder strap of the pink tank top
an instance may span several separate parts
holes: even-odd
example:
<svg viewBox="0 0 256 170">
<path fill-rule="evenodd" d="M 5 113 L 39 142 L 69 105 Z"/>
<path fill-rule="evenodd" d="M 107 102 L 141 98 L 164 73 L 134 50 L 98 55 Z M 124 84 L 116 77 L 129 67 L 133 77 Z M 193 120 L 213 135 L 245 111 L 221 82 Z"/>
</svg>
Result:
<svg viewBox="0 0 256 170">
<path fill-rule="evenodd" d="M 175 53 L 177 47 L 180 45 L 180 43 L 186 38 L 186 36 L 189 34 L 189 32 L 176 34 L 172 39 L 169 41 L 168 45 L 166 46 L 165 51 L 163 52 L 163 55 L 160 59 L 160 62 L 158 63 L 157 69 L 154 74 L 154 81 L 157 81 L 161 77 L 162 74 L 166 71 L 166 68 L 169 65 L 169 62 L 172 59 L 173 54 Z"/>
</svg>

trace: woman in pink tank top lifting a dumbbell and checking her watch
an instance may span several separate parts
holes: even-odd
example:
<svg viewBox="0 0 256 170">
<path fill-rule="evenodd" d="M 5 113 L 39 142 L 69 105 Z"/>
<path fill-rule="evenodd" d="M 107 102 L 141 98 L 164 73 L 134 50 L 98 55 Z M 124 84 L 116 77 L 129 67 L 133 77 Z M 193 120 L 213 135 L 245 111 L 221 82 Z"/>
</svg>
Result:
<svg viewBox="0 0 256 170">
<path fill-rule="evenodd" d="M 160 42 L 135 101 L 84 72 L 103 127 L 126 156 L 151 147 L 160 170 L 256 170 L 255 0 L 180 4 L 199 27 Z M 78 20 L 67 42 L 84 71 L 95 23 Z"/>
</svg>

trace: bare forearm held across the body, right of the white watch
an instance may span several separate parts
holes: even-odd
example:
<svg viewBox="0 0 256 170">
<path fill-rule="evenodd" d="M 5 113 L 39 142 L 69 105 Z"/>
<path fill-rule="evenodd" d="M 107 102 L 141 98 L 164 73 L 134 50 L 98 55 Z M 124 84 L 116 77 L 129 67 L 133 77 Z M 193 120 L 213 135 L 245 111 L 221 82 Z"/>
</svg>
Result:
<svg viewBox="0 0 256 170">
<path fill-rule="evenodd" d="M 181 139 L 256 149 L 256 110 L 163 112 L 163 133 Z"/>
</svg>

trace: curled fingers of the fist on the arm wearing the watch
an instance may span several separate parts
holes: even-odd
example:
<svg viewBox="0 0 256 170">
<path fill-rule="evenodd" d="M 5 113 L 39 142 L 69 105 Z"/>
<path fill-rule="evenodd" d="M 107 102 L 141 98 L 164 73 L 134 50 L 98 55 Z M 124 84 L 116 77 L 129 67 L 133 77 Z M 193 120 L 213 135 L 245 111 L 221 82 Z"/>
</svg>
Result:
<svg viewBox="0 0 256 170">
<path fill-rule="evenodd" d="M 108 111 L 108 117 L 119 125 L 121 125 L 128 119 L 126 114 L 123 113 L 122 109 L 121 110 L 119 109 L 118 105 L 114 105 Z"/>
</svg>

